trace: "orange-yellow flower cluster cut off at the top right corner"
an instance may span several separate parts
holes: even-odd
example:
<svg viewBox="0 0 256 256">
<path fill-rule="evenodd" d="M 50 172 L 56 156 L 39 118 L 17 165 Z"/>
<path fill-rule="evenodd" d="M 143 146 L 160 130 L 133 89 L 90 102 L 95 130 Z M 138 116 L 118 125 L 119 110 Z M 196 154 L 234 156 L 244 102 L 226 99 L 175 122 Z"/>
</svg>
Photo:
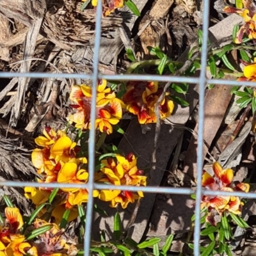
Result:
<svg viewBox="0 0 256 256">
<path fill-rule="evenodd" d="M 248 35 L 250 39 L 256 39 L 256 5 L 252 0 L 243 0 L 243 9 L 226 6 L 223 11 L 226 13 L 238 13 L 243 17 L 245 24 L 241 26 L 236 35 L 236 44 L 243 42 L 244 34 Z"/>
</svg>

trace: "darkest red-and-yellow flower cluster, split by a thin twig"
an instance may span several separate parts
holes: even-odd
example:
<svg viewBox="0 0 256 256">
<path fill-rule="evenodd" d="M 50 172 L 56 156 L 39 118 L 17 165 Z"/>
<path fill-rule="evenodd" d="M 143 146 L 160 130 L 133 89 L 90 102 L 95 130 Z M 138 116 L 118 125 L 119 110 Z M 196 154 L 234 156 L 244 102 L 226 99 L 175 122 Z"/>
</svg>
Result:
<svg viewBox="0 0 256 256">
<path fill-rule="evenodd" d="M 140 124 L 156 123 L 155 113 L 157 100 L 163 89 L 159 88 L 157 82 L 127 82 L 127 92 L 123 96 L 124 103 L 129 112 L 138 116 Z M 159 110 L 161 118 L 167 118 L 173 112 L 174 104 L 169 100 L 166 93 Z"/>
</svg>

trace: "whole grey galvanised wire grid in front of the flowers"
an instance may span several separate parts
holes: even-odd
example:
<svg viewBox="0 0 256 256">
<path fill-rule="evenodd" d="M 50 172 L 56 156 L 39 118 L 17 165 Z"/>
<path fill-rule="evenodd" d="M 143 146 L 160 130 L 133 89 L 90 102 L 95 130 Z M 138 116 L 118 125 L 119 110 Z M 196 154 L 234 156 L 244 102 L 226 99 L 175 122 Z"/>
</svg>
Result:
<svg viewBox="0 0 256 256">
<path fill-rule="evenodd" d="M 238 85 L 238 86 L 255 86 L 256 83 L 252 82 L 238 82 L 238 81 L 228 81 L 222 79 L 207 79 L 205 76 L 205 70 L 207 65 L 207 38 L 208 38 L 208 28 L 209 28 L 209 0 L 204 0 L 204 15 L 203 15 L 203 44 L 202 44 L 202 59 L 201 59 L 201 73 L 200 77 L 175 77 L 175 76 L 151 76 L 151 75 L 115 75 L 115 76 L 102 76 L 98 73 L 99 64 L 99 50 L 100 50 L 100 34 L 101 34 L 101 15 L 102 15 L 102 1 L 98 0 L 97 7 L 97 23 L 96 23 L 96 35 L 95 35 L 95 48 L 93 57 L 93 74 L 47 74 L 47 73 L 10 73 L 10 72 L 0 72 L 0 77 L 33 77 L 33 78 L 51 78 L 51 77 L 62 77 L 62 78 L 81 78 L 81 79 L 92 79 L 93 90 L 92 90 L 92 129 L 90 130 L 89 138 L 89 180 L 87 184 L 61 184 L 61 188 L 84 188 L 89 190 L 88 204 L 86 208 L 86 228 L 84 237 L 84 255 L 90 254 L 90 239 L 92 230 L 92 217 L 93 217 L 93 189 L 120 189 L 127 191 L 137 191 L 137 187 L 131 186 L 113 186 L 108 184 L 95 184 L 93 182 L 93 173 L 95 166 L 95 106 L 96 106 L 96 94 L 97 94 L 97 81 L 98 79 L 109 79 L 109 80 L 141 80 L 141 81 L 172 81 L 176 83 L 198 83 L 199 84 L 199 124 L 198 124 L 198 156 L 197 156 L 197 188 L 196 188 L 196 198 L 201 198 L 202 195 L 234 195 L 243 196 L 244 198 L 256 198 L 255 193 L 244 193 L 234 191 L 223 192 L 223 191 L 203 191 L 202 190 L 202 168 L 203 160 L 203 134 L 204 134 L 204 96 L 205 96 L 205 84 L 225 84 L 225 85 Z M 0 186 L 10 186 L 10 187 L 24 187 L 33 186 L 40 187 L 40 184 L 36 182 L 17 182 L 17 181 L 6 181 L 0 182 Z M 51 183 L 47 184 L 49 188 L 60 188 L 60 184 Z M 146 193 L 170 193 L 177 195 L 190 195 L 195 193 L 193 189 L 190 188 L 154 188 L 154 187 L 143 187 L 140 191 Z M 199 256 L 199 241 L 200 241 L 200 200 L 196 200 L 195 206 L 195 233 L 194 233 L 194 255 Z"/>
</svg>

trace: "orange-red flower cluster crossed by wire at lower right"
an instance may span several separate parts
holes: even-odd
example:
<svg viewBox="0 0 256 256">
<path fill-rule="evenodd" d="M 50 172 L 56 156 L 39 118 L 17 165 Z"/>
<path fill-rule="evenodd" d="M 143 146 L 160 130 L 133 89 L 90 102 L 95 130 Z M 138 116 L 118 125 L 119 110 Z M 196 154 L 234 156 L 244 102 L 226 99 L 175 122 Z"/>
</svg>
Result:
<svg viewBox="0 0 256 256">
<path fill-rule="evenodd" d="M 232 180 L 234 172 L 232 169 L 223 170 L 221 165 L 216 162 L 212 165 L 214 177 L 204 171 L 202 177 L 202 186 L 205 189 L 211 189 L 215 191 L 244 191 L 248 192 L 250 189 L 247 183 L 233 184 Z M 207 215 L 207 221 L 214 225 L 214 212 L 222 215 L 224 211 L 232 212 L 233 214 L 241 214 L 243 202 L 238 196 L 203 196 L 201 208 L 205 207 L 209 213 Z"/>
</svg>

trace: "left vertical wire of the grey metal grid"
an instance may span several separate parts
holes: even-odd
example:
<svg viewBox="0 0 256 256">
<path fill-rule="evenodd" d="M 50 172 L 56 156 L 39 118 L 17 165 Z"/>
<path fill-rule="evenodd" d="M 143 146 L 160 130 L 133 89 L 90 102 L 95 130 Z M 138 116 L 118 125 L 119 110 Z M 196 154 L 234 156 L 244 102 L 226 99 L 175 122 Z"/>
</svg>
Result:
<svg viewBox="0 0 256 256">
<path fill-rule="evenodd" d="M 94 44 L 94 57 L 93 57 L 93 76 L 92 76 L 92 105 L 90 113 L 91 129 L 89 135 L 89 164 L 88 164 L 88 186 L 89 195 L 86 207 L 86 226 L 84 231 L 84 256 L 90 255 L 91 232 L 92 232 L 92 218 L 93 218 L 93 179 L 95 168 L 95 119 L 96 119 L 96 97 L 97 97 L 97 84 L 98 84 L 98 66 L 99 66 L 99 53 L 100 53 L 100 36 L 101 36 L 101 15 L 102 15 L 102 1 L 98 0 L 97 14 L 96 14 L 96 35 Z"/>
</svg>

